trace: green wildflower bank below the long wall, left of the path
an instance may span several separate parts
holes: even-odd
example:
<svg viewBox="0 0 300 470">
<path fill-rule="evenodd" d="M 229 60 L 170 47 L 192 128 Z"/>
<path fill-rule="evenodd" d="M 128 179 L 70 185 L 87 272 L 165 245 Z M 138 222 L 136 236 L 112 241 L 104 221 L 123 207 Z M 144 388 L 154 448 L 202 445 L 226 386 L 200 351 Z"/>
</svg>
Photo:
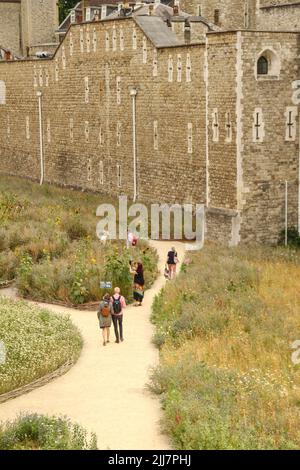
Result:
<svg viewBox="0 0 300 470">
<path fill-rule="evenodd" d="M 25 298 L 80 305 L 102 298 L 100 281 L 112 281 L 130 298 L 133 259 L 143 262 L 149 287 L 157 274 L 154 250 L 97 238 L 96 209 L 104 202 L 117 201 L 0 176 L 0 282 L 16 279 Z"/>
</svg>

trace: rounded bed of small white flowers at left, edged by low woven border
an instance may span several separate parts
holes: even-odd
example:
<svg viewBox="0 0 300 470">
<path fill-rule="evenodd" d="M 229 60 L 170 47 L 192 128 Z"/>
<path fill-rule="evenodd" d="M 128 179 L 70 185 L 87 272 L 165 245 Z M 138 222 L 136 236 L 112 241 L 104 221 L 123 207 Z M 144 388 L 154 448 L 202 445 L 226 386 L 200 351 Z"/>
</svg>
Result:
<svg viewBox="0 0 300 470">
<path fill-rule="evenodd" d="M 75 362 L 82 348 L 81 335 L 68 317 L 4 298 L 0 341 L 0 395 Z"/>
</svg>

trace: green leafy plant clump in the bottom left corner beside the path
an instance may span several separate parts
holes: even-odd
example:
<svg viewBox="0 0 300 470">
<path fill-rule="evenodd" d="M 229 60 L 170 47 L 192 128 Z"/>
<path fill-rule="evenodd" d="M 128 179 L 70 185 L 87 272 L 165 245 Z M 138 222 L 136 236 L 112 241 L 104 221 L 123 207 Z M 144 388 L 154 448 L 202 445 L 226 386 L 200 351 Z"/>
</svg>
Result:
<svg viewBox="0 0 300 470">
<path fill-rule="evenodd" d="M 97 450 L 97 438 L 65 417 L 28 414 L 0 426 L 0 450 Z"/>
</svg>

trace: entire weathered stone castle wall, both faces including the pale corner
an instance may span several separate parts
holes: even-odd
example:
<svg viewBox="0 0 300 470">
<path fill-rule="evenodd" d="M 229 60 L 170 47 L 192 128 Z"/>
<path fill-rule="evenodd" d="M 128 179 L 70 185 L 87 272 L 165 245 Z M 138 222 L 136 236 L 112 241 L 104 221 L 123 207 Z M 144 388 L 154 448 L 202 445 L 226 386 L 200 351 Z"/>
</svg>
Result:
<svg viewBox="0 0 300 470">
<path fill-rule="evenodd" d="M 152 21 L 73 25 L 53 59 L 0 63 L 0 172 L 39 179 L 41 92 L 45 180 L 133 197 L 136 93 L 138 199 L 203 203 L 208 238 L 275 243 L 285 181 L 299 226 L 300 33 L 197 20 L 185 43 L 181 21 L 161 22 L 155 45 Z"/>
</svg>

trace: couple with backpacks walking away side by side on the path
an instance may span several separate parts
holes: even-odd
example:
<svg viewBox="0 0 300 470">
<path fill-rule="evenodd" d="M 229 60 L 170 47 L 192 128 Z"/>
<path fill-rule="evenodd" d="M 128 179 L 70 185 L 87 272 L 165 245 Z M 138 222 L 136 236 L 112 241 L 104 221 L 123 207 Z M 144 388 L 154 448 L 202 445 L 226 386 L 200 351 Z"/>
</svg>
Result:
<svg viewBox="0 0 300 470">
<path fill-rule="evenodd" d="M 119 287 L 115 288 L 115 293 L 111 297 L 105 294 L 100 302 L 97 312 L 100 329 L 102 330 L 103 346 L 110 342 L 110 328 L 114 325 L 116 343 L 124 341 L 123 336 L 123 313 L 126 308 L 125 298 L 121 295 Z"/>
</svg>

